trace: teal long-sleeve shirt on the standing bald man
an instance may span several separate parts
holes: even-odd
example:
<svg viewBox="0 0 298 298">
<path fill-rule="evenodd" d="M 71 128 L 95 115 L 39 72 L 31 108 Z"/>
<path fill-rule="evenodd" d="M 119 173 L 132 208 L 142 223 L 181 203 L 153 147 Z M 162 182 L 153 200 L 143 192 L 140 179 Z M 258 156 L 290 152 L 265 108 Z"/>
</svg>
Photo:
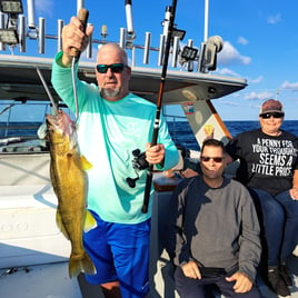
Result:
<svg viewBox="0 0 298 298">
<path fill-rule="evenodd" d="M 57 60 L 52 67 L 52 85 L 61 99 L 74 111 L 71 69 L 62 68 Z M 148 213 L 141 212 L 147 170 L 138 171 L 136 187 L 126 179 L 136 178 L 132 151 L 146 149 L 151 141 L 156 106 L 129 93 L 119 101 L 100 97 L 98 86 L 77 79 L 79 98 L 78 140 L 81 153 L 92 165 L 88 173 L 88 209 L 101 219 L 120 224 L 141 222 L 151 216 L 152 193 Z M 161 118 L 158 142 L 166 148 L 161 170 L 172 168 L 179 156 Z"/>
</svg>

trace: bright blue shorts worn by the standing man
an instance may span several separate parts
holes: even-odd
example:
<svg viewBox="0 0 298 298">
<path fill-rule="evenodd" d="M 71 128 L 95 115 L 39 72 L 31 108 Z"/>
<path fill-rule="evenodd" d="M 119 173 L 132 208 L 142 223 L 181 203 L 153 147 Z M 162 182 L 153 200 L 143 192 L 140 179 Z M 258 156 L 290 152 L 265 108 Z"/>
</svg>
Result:
<svg viewBox="0 0 298 298">
<path fill-rule="evenodd" d="M 126 225 L 92 215 L 98 226 L 83 235 L 83 245 L 97 274 L 86 275 L 87 281 L 101 285 L 118 280 L 122 298 L 145 297 L 149 292 L 150 219 Z"/>
</svg>

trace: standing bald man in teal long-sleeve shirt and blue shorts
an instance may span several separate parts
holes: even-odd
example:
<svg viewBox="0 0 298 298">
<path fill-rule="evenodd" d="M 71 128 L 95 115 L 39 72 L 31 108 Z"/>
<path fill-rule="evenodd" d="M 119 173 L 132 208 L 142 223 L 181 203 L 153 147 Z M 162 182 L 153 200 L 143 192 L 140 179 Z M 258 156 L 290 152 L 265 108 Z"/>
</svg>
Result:
<svg viewBox="0 0 298 298">
<path fill-rule="evenodd" d="M 71 18 L 62 31 L 62 52 L 56 56 L 52 67 L 52 85 L 72 111 L 76 102 L 70 49 L 82 51 L 91 31 L 88 27 L 85 34 L 81 22 Z M 76 78 L 79 147 L 92 165 L 88 170 L 88 209 L 98 221 L 98 227 L 83 237 L 97 268 L 96 275 L 86 278 L 100 285 L 106 297 L 146 297 L 149 291 L 152 199 L 148 213 L 141 212 L 147 170 L 136 172 L 132 151 L 145 152 L 146 160 L 160 170 L 172 168 L 179 158 L 162 118 L 158 143 L 150 147 L 156 106 L 129 92 L 130 74 L 125 50 L 107 43 L 98 51 L 98 86 Z M 131 187 L 127 178 L 137 176 Z"/>
</svg>

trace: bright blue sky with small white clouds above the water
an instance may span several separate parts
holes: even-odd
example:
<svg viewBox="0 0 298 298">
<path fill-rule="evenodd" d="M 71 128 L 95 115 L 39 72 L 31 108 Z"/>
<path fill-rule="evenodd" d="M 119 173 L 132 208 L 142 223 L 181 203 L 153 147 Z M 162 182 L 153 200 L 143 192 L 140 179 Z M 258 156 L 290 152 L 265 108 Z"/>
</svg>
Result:
<svg viewBox="0 0 298 298">
<path fill-rule="evenodd" d="M 46 18 L 46 33 L 57 34 L 57 19 L 69 22 L 77 14 L 76 0 L 36 0 L 36 20 Z M 108 39 L 119 41 L 119 28 L 126 28 L 123 0 L 85 0 L 95 39 L 102 24 Z M 132 0 L 136 44 L 143 44 L 151 32 L 151 46 L 159 46 L 162 20 L 171 0 Z M 27 13 L 26 1 L 23 1 Z M 208 37 L 220 36 L 224 49 L 218 53 L 215 74 L 244 78 L 248 87 L 237 93 L 212 100 L 224 120 L 257 120 L 261 103 L 270 98 L 284 105 L 286 120 L 298 120 L 298 4 L 297 0 L 209 0 L 208 28 L 205 28 L 205 0 L 178 0 L 175 23 L 187 31 L 182 43 L 193 40 L 199 48 Z M 18 50 L 14 50 L 16 54 Z M 44 57 L 57 52 L 56 41 L 47 41 Z M 28 41 L 26 54 L 37 54 L 36 40 Z M 156 64 L 156 61 L 153 62 Z M 171 107 L 167 113 L 180 115 Z"/>
</svg>

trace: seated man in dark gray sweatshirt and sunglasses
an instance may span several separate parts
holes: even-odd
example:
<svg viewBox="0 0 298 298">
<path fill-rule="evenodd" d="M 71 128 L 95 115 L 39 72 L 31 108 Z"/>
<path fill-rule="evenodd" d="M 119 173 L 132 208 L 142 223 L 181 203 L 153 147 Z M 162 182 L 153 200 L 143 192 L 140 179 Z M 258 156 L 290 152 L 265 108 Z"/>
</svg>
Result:
<svg viewBox="0 0 298 298">
<path fill-rule="evenodd" d="M 200 162 L 202 175 L 178 185 L 168 212 L 176 288 L 181 298 L 209 297 L 209 285 L 225 297 L 261 297 L 255 285 L 261 246 L 252 199 L 222 176 L 221 141 L 206 140 Z"/>
</svg>

